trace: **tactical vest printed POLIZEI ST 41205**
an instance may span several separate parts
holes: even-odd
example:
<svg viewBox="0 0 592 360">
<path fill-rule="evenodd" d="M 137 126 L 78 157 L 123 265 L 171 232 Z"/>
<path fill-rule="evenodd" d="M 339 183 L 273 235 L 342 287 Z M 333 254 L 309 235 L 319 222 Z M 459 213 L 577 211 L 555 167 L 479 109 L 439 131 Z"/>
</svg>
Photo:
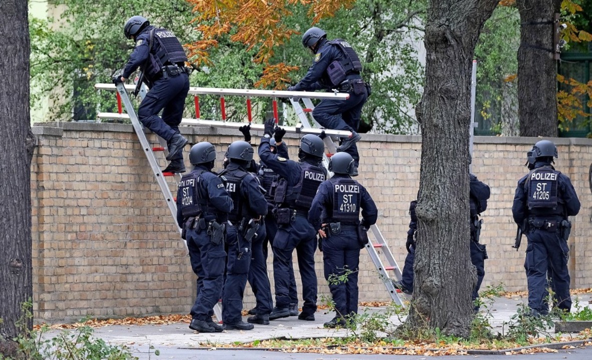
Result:
<svg viewBox="0 0 592 360">
<path fill-rule="evenodd" d="M 528 208 L 532 215 L 562 214 L 562 209 L 558 209 L 557 206 L 559 174 L 561 173 L 551 166 L 535 168 L 528 174 L 525 188 L 528 191 Z"/>
</svg>

